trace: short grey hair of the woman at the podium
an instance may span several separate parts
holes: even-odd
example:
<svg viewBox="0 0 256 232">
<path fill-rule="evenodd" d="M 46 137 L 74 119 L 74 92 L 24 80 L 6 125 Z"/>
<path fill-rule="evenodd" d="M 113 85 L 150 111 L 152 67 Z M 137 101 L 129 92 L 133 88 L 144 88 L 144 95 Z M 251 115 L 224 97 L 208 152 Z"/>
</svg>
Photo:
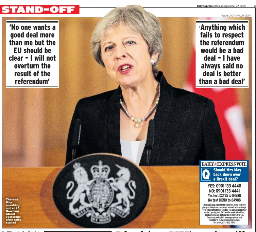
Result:
<svg viewBox="0 0 256 232">
<path fill-rule="evenodd" d="M 146 40 L 150 56 L 159 53 L 157 61 L 152 65 L 153 75 L 156 76 L 158 72 L 156 65 L 163 54 L 161 24 L 156 16 L 139 5 L 117 7 L 97 24 L 91 37 L 91 51 L 95 60 L 105 67 L 101 58 L 101 40 L 107 30 L 120 24 L 136 31 Z"/>
</svg>

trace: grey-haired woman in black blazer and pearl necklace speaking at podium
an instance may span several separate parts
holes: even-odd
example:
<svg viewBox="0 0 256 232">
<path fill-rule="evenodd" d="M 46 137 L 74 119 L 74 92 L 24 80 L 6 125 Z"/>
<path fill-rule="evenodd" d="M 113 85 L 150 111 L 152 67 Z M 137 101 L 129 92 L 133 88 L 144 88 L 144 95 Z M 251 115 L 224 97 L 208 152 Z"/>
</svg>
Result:
<svg viewBox="0 0 256 232">
<path fill-rule="evenodd" d="M 146 165 L 151 119 L 154 144 L 149 165 L 225 160 L 213 102 L 172 87 L 157 70 L 163 46 L 161 25 L 153 14 L 137 5 L 113 9 L 96 26 L 91 49 L 119 87 L 77 103 L 68 134 L 66 164 L 85 154 L 107 152 Z M 77 133 L 79 146 L 74 149 Z"/>
</svg>

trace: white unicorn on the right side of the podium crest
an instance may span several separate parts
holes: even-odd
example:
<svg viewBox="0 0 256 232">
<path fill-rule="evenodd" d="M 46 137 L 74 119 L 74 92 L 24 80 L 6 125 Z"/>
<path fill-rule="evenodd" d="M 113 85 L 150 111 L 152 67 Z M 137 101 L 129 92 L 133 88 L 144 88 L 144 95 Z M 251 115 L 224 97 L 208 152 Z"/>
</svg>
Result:
<svg viewBox="0 0 256 232">
<path fill-rule="evenodd" d="M 133 206 L 133 203 L 130 203 L 130 199 L 135 198 L 134 189 L 136 189 L 136 184 L 135 184 L 135 181 L 130 181 L 131 173 L 130 173 L 128 168 L 121 167 L 117 164 L 116 164 L 116 166 L 120 169 L 117 172 L 118 178 L 115 178 L 115 179 L 113 177 L 110 178 L 110 180 L 113 181 L 113 182 L 110 182 L 110 185 L 112 186 L 112 188 L 115 191 L 117 191 L 119 189 L 121 192 L 116 194 L 117 202 L 113 203 L 110 206 L 110 211 L 113 211 L 113 208 L 120 208 L 120 207 L 117 207 L 117 206 L 123 204 L 124 207 L 126 207 L 125 209 L 122 210 L 123 213 L 129 214 L 130 213 L 130 206 Z M 130 190 L 125 187 L 125 185 L 127 183 L 128 183 L 129 189 L 132 192 L 132 195 L 130 194 Z"/>
</svg>

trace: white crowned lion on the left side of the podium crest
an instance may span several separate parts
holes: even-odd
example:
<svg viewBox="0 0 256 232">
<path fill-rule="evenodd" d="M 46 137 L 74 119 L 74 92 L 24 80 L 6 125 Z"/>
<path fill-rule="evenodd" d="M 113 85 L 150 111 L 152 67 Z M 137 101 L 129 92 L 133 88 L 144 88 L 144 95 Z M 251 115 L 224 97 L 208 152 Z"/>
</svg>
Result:
<svg viewBox="0 0 256 232">
<path fill-rule="evenodd" d="M 73 176 L 74 180 L 78 184 L 78 187 L 76 190 L 73 192 L 73 194 L 70 196 L 70 192 L 74 188 L 74 182 L 69 181 L 67 183 L 66 189 L 70 188 L 67 192 L 67 199 L 73 199 L 72 202 L 69 203 L 69 211 L 71 213 L 76 213 L 80 209 L 74 209 L 74 205 L 79 201 L 80 204 L 84 207 L 91 207 L 91 204 L 85 202 L 85 197 L 86 194 L 87 196 L 90 194 L 90 189 L 89 189 L 89 179 L 86 170 L 83 167 L 80 167 L 80 163 L 75 163 L 74 164 L 74 171 L 73 171 Z M 71 186 L 71 187 L 70 187 Z M 84 193 L 84 191 L 86 193 Z"/>
</svg>

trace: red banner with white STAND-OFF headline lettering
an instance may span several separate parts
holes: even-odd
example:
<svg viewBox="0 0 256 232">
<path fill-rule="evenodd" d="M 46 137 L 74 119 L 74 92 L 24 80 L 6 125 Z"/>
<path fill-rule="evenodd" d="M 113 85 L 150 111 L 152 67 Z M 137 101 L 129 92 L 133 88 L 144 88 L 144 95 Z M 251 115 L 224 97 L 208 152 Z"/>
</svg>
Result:
<svg viewBox="0 0 256 232">
<path fill-rule="evenodd" d="M 0 5 L 0 14 L 79 15 L 79 5 Z"/>
</svg>

